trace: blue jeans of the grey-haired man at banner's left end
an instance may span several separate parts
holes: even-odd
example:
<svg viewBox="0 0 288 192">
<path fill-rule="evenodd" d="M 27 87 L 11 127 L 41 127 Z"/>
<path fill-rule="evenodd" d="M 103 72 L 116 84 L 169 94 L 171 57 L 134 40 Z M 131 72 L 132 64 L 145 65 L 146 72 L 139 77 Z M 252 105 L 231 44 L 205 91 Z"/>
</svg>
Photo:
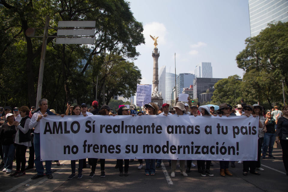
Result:
<svg viewBox="0 0 288 192">
<path fill-rule="evenodd" d="M 44 174 L 43 163 L 40 158 L 40 134 L 34 134 L 35 167 L 38 175 Z M 45 161 L 46 175 L 51 174 L 51 161 Z"/>
</svg>

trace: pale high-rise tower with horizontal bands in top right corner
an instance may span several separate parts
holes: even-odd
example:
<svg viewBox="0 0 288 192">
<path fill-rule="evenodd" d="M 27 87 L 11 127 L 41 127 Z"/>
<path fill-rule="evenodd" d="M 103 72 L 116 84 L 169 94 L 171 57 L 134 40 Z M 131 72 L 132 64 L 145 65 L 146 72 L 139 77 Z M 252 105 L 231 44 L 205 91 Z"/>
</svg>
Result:
<svg viewBox="0 0 288 192">
<path fill-rule="evenodd" d="M 270 22 L 288 21 L 287 0 L 249 0 L 250 35 L 257 36 Z"/>
</svg>

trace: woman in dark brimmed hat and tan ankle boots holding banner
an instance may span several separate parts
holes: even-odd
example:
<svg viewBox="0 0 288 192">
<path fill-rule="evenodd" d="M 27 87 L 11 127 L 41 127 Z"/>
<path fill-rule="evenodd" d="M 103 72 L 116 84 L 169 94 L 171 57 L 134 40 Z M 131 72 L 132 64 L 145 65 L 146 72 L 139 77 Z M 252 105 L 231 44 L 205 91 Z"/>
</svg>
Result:
<svg viewBox="0 0 288 192">
<path fill-rule="evenodd" d="M 218 115 L 220 117 L 222 116 L 229 117 L 230 116 L 229 113 L 230 113 L 229 106 L 226 103 L 222 103 L 219 105 Z M 219 164 L 220 164 L 220 176 L 225 177 L 225 174 L 228 176 L 232 176 L 232 173 L 230 173 L 230 171 L 228 170 L 229 161 L 219 161 Z"/>
</svg>

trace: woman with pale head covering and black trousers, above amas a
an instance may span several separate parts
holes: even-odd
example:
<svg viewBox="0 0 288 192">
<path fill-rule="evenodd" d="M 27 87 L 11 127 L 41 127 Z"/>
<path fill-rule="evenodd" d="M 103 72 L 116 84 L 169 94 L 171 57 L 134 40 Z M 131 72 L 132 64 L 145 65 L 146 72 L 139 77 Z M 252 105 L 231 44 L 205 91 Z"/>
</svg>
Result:
<svg viewBox="0 0 288 192">
<path fill-rule="evenodd" d="M 211 116 L 210 107 L 207 105 L 199 106 L 199 111 L 201 112 L 202 116 Z M 194 114 L 196 116 L 196 114 Z M 205 170 L 205 160 L 197 160 L 198 172 L 201 173 L 202 177 L 206 177 L 206 173 L 208 176 L 214 176 L 213 173 L 210 171 L 211 160 L 206 160 L 206 170 Z"/>
</svg>

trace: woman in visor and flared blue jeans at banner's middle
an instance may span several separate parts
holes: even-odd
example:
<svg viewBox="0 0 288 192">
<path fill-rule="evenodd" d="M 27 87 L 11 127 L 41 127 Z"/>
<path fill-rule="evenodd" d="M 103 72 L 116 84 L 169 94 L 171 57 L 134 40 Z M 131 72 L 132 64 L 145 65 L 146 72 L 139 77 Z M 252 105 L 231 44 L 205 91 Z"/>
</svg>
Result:
<svg viewBox="0 0 288 192">
<path fill-rule="evenodd" d="M 158 114 L 158 106 L 155 103 L 145 104 L 148 115 L 156 115 Z M 146 176 L 154 176 L 155 175 L 155 159 L 145 159 L 146 168 L 145 175 Z"/>
</svg>

